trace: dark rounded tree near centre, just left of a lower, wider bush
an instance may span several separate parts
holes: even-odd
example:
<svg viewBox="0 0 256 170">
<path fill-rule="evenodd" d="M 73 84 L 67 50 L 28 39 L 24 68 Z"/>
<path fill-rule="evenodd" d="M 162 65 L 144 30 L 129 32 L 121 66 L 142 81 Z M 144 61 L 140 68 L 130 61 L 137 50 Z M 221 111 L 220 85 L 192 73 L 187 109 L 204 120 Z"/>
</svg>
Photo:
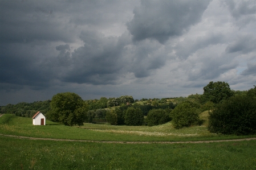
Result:
<svg viewBox="0 0 256 170">
<path fill-rule="evenodd" d="M 144 115 L 140 108 L 128 107 L 124 118 L 128 126 L 140 126 L 144 123 Z"/>
</svg>

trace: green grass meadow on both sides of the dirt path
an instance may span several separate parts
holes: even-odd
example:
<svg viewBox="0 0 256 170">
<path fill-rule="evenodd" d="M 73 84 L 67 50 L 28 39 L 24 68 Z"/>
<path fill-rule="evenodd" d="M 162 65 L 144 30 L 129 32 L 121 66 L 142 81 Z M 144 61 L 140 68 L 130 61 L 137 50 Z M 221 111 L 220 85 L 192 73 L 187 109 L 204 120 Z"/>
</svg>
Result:
<svg viewBox="0 0 256 170">
<path fill-rule="evenodd" d="M 32 125 L 31 118 L 0 118 L 0 169 L 256 169 L 256 141 L 218 143 L 97 143 L 19 139 L 99 141 L 198 141 L 255 136 L 210 134 L 206 126 L 176 130 L 171 123 L 109 126 L 86 123 L 68 127 L 50 121 Z"/>
</svg>

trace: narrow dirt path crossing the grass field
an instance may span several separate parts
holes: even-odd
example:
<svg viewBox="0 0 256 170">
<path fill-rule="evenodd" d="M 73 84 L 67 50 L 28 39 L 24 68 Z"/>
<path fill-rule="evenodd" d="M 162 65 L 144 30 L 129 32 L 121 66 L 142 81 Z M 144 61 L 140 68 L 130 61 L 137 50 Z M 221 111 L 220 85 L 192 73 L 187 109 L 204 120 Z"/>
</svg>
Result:
<svg viewBox="0 0 256 170">
<path fill-rule="evenodd" d="M 175 143 L 213 143 L 213 142 L 238 142 L 243 140 L 256 140 L 256 138 L 245 138 L 245 139 L 229 139 L 229 140 L 202 140 L 202 141 L 187 141 L 187 142 L 124 142 L 124 141 L 98 141 L 98 140 L 75 140 L 75 139 L 51 139 L 51 138 L 32 138 L 26 136 L 15 136 L 15 135 L 3 135 L 11 138 L 19 139 L 31 139 L 31 140 L 54 140 L 54 141 L 70 141 L 70 142 L 96 142 L 96 143 L 123 143 L 123 144 L 151 144 L 151 143 L 166 143 L 166 144 L 175 144 Z"/>
</svg>

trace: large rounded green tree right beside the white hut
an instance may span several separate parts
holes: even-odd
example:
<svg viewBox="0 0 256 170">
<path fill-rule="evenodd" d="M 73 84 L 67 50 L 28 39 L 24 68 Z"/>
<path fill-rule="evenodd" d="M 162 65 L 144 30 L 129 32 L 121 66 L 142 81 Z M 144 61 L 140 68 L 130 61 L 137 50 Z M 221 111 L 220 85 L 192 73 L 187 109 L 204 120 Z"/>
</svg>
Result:
<svg viewBox="0 0 256 170">
<path fill-rule="evenodd" d="M 47 118 L 66 126 L 83 125 L 86 108 L 83 99 L 75 93 L 58 93 L 52 97 Z"/>
</svg>

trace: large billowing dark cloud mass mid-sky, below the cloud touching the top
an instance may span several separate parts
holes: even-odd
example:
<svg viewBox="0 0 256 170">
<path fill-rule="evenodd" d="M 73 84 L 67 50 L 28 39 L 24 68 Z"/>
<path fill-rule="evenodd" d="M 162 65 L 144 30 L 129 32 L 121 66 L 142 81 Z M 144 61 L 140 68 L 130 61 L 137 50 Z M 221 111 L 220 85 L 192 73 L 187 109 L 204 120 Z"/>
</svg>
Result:
<svg viewBox="0 0 256 170">
<path fill-rule="evenodd" d="M 104 36 L 96 31 L 84 31 L 80 35 L 83 47 L 75 49 L 70 65 L 62 81 L 88 84 L 119 84 L 123 74 L 147 77 L 152 71 L 165 65 L 162 45 L 145 40 L 131 44 L 131 36 Z"/>
</svg>

